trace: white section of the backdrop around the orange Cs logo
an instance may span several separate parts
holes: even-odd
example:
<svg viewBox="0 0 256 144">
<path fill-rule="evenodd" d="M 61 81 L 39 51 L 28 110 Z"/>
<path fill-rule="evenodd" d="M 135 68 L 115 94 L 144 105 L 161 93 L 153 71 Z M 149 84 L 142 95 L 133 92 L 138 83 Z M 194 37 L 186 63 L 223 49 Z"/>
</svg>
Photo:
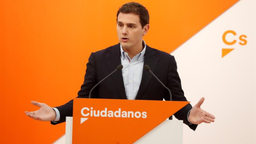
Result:
<svg viewBox="0 0 256 144">
<path fill-rule="evenodd" d="M 185 95 L 191 105 L 205 97 L 202 108 L 216 121 L 201 124 L 195 132 L 183 128 L 183 143 L 255 143 L 255 2 L 239 1 L 191 37 L 172 55 Z M 227 45 L 227 40 L 246 35 L 246 45 Z M 221 58 L 222 48 L 234 48 Z"/>
</svg>

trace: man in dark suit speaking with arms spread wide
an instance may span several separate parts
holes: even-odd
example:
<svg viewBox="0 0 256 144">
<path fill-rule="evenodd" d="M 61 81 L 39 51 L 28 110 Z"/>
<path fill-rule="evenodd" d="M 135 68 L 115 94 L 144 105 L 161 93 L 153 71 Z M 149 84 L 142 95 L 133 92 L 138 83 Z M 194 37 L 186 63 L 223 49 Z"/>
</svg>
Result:
<svg viewBox="0 0 256 144">
<path fill-rule="evenodd" d="M 146 45 L 143 36 L 148 30 L 149 14 L 144 6 L 127 3 L 120 7 L 117 12 L 119 44 L 91 54 L 78 98 L 88 98 L 92 87 L 122 64 L 122 71 L 116 71 L 98 85 L 92 92 L 92 98 L 170 100 L 168 91 L 148 71 L 143 70 L 143 65 L 148 65 L 162 83 L 169 87 L 172 100 L 187 101 L 181 89 L 174 57 Z M 193 108 L 188 104 L 174 116 L 193 130 L 202 122 L 214 122 L 215 117 L 200 108 L 203 101 L 204 98 Z M 41 108 L 32 112 L 26 111 L 26 114 L 40 121 L 58 124 L 65 122 L 66 116 L 73 115 L 73 100 L 56 108 L 35 101 L 31 103 Z"/>
</svg>

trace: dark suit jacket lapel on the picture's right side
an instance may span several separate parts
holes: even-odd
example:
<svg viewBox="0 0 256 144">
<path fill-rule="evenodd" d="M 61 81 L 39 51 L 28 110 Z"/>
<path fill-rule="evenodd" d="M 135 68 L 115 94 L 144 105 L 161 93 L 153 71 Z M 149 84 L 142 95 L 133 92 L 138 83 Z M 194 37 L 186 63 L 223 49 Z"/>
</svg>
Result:
<svg viewBox="0 0 256 144">
<path fill-rule="evenodd" d="M 153 71 L 153 73 L 155 72 L 157 63 L 159 61 L 159 59 L 154 56 L 155 54 L 156 54 L 156 51 L 154 49 L 151 49 L 149 46 L 147 46 L 146 52 L 145 52 L 144 65 L 148 65 L 151 71 Z M 147 89 L 151 77 L 152 75 L 149 73 L 149 71 L 146 71 L 145 69 L 143 69 L 140 87 L 136 97 L 137 100 L 140 100 L 142 98 L 142 95 Z"/>
</svg>

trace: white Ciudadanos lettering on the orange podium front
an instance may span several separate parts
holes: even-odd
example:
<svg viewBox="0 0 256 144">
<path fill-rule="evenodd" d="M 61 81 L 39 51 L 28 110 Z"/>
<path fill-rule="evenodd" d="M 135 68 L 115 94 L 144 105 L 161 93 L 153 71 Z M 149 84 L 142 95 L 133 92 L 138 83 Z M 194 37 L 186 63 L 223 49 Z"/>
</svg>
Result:
<svg viewBox="0 0 256 144">
<path fill-rule="evenodd" d="M 86 111 L 85 111 L 86 110 Z M 123 118 L 147 118 L 147 112 L 143 111 L 142 113 L 140 111 L 136 111 L 135 113 L 133 111 L 122 111 L 121 108 L 118 108 L 118 110 L 108 110 L 105 108 L 105 110 L 93 110 L 93 107 L 91 109 L 84 107 L 81 109 L 82 116 L 91 116 L 91 117 L 123 117 Z"/>
</svg>

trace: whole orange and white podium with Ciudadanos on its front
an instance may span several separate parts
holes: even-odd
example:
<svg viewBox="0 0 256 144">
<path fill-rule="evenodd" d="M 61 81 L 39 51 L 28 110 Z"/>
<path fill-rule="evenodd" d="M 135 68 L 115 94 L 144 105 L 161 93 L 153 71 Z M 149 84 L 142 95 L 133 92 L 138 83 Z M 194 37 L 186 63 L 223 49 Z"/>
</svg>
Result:
<svg viewBox="0 0 256 144">
<path fill-rule="evenodd" d="M 66 143 L 182 143 L 182 121 L 166 119 L 188 103 L 74 99 Z"/>
</svg>

